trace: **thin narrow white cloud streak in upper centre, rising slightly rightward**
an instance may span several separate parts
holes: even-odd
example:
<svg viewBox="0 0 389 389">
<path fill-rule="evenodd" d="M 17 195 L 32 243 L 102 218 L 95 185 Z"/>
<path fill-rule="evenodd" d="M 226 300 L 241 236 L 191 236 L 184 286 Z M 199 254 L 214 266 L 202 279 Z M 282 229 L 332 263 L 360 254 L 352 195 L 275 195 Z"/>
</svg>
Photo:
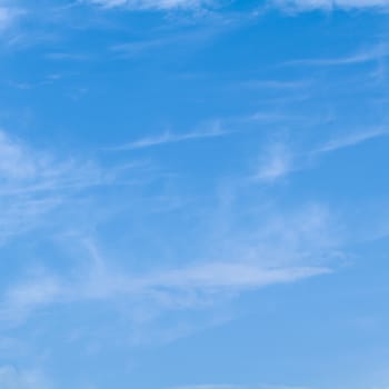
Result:
<svg viewBox="0 0 389 389">
<path fill-rule="evenodd" d="M 126 150 L 132 150 L 132 149 L 144 149 L 144 148 L 169 144 L 169 143 L 186 142 L 190 140 L 223 137 L 223 136 L 227 136 L 228 133 L 230 133 L 230 131 L 223 130 L 221 126 L 218 122 L 216 122 L 205 130 L 196 130 L 192 132 L 184 132 L 184 133 L 173 133 L 171 131 L 166 131 L 158 136 L 141 138 L 129 143 L 109 148 L 108 150 L 126 151 Z"/>
</svg>

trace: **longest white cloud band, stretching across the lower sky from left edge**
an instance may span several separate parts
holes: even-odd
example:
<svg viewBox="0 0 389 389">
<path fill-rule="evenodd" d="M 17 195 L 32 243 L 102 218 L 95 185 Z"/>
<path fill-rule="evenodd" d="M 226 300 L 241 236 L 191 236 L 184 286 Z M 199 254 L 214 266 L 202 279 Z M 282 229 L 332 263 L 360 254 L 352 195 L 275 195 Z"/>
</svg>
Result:
<svg viewBox="0 0 389 389">
<path fill-rule="evenodd" d="M 48 307 L 122 298 L 138 307 L 152 303 L 154 311 L 190 310 L 245 291 L 328 275 L 331 269 L 319 265 L 322 252 L 331 251 L 328 217 L 316 208 L 302 213 L 265 220 L 252 242 L 239 243 L 236 237 L 233 245 L 240 248 L 218 250 L 231 252 L 230 258 L 142 273 L 112 270 L 111 260 L 88 242 L 88 268 L 72 269 L 69 277 L 47 271 L 10 287 L 0 300 L 0 316 L 18 321 Z"/>
</svg>

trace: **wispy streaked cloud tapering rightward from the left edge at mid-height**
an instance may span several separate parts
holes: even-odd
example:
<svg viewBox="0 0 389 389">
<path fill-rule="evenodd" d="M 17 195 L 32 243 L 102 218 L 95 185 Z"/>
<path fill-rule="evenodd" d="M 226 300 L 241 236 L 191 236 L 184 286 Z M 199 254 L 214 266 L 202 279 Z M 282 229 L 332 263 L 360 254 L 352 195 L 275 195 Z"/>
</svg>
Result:
<svg viewBox="0 0 389 389">
<path fill-rule="evenodd" d="M 61 159 L 0 131 L 0 243 L 36 227 L 74 196 L 117 183 L 131 167 L 103 169 L 90 160 Z"/>
</svg>

